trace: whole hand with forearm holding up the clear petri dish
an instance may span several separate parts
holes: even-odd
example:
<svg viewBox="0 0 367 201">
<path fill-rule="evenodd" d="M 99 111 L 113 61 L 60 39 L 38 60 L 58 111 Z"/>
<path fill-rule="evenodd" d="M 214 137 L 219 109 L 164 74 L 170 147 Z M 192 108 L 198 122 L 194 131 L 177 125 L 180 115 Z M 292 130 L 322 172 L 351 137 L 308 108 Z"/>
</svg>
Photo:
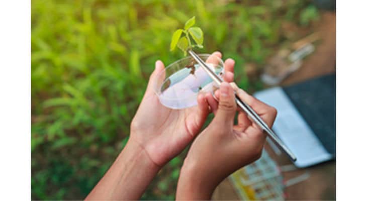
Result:
<svg viewBox="0 0 367 201">
<path fill-rule="evenodd" d="M 213 55 L 222 56 L 219 52 Z M 225 70 L 233 69 L 233 64 L 227 60 Z M 131 123 L 128 143 L 86 199 L 139 199 L 159 169 L 199 133 L 210 112 L 205 96 L 199 94 L 198 106 L 186 110 L 164 107 L 154 92 L 163 69 L 163 63 L 157 61 Z"/>
</svg>

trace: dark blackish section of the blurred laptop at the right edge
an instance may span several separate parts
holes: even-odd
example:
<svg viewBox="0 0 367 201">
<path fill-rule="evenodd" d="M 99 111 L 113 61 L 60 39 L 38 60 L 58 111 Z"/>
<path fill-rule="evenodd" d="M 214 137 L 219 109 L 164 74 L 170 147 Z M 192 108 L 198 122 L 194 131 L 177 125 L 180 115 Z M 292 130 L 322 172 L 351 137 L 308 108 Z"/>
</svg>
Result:
<svg viewBox="0 0 367 201">
<path fill-rule="evenodd" d="M 335 155 L 335 74 L 283 87 L 326 150 Z"/>
</svg>

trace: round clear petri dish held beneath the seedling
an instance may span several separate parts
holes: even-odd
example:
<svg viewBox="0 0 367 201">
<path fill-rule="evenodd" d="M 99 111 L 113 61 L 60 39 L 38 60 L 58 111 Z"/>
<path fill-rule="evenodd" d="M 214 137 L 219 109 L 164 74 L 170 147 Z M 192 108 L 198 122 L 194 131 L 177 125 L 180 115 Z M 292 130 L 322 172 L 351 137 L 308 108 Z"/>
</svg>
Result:
<svg viewBox="0 0 367 201">
<path fill-rule="evenodd" d="M 199 54 L 218 75 L 224 74 L 221 58 Z M 198 105 L 199 92 L 213 92 L 217 84 L 191 56 L 168 65 L 158 74 L 155 93 L 162 105 L 171 109 L 184 109 Z"/>
</svg>

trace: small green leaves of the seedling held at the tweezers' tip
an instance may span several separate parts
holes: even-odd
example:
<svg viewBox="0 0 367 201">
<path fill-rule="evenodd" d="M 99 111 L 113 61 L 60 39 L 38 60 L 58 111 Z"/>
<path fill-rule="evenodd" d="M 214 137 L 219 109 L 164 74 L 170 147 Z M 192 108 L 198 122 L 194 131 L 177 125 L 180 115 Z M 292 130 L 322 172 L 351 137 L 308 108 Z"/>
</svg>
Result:
<svg viewBox="0 0 367 201">
<path fill-rule="evenodd" d="M 204 34 L 199 27 L 193 27 L 195 25 L 195 16 L 185 23 L 184 29 L 177 29 L 173 35 L 170 44 L 170 50 L 173 51 L 177 46 L 184 55 L 187 55 L 187 51 L 194 47 L 203 48 Z M 182 36 L 182 33 L 184 34 Z M 193 41 L 192 41 L 193 40 Z M 195 44 L 193 43 L 195 41 Z"/>
</svg>

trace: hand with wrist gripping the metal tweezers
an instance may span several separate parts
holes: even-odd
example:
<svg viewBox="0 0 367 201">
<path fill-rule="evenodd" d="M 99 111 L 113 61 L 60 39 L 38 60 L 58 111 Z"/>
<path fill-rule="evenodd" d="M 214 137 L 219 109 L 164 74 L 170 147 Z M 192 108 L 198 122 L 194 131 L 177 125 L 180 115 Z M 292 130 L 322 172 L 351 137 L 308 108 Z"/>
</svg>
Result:
<svg viewBox="0 0 367 201">
<path fill-rule="evenodd" d="M 232 72 L 225 74 L 233 77 Z M 276 109 L 238 87 L 236 92 L 269 127 L 272 126 Z M 215 118 L 189 150 L 178 180 L 177 199 L 210 199 L 215 187 L 224 178 L 261 156 L 266 137 L 262 129 L 242 111 L 238 114 L 238 124 L 233 125 L 236 103 L 231 85 L 223 82 L 216 96 L 219 104 L 211 94 L 206 95 Z"/>
</svg>

